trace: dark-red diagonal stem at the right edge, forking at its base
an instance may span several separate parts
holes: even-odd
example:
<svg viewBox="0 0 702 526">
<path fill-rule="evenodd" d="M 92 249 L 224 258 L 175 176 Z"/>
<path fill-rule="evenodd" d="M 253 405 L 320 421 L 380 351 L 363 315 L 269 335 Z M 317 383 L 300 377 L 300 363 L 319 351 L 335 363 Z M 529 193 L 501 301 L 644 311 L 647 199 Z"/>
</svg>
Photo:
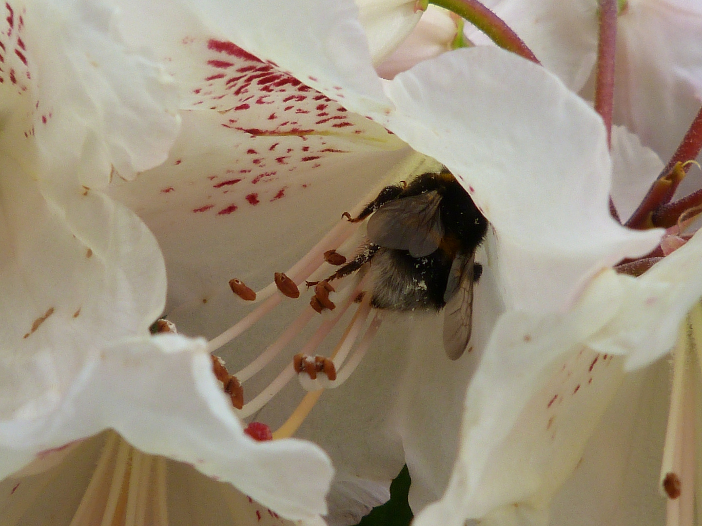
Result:
<svg viewBox="0 0 702 526">
<path fill-rule="evenodd" d="M 701 150 L 702 109 L 700 109 L 692 121 L 680 146 L 677 147 L 675 154 L 673 154 L 673 158 L 670 159 L 665 168 L 663 168 L 661 175 L 658 175 L 658 179 L 651 185 L 649 193 L 646 194 L 639 208 L 635 210 L 633 215 L 626 222 L 627 227 L 645 229 L 653 227 L 654 225 L 658 226 L 658 224 L 654 223 L 654 220 L 652 220 L 652 216 L 658 218 L 656 221 L 659 221 L 659 224 L 668 224 L 668 226 L 671 226 L 675 224 L 677 217 L 679 217 L 684 210 L 702 202 L 702 196 L 698 195 L 700 192 L 698 190 L 694 194 L 690 194 L 680 199 L 680 201 L 666 206 L 670 202 L 670 199 L 673 198 L 677 185 L 680 184 L 685 173 L 689 170 L 690 165 L 687 161 L 695 159 Z M 671 217 L 674 217 L 672 222 L 670 222 Z"/>
</svg>

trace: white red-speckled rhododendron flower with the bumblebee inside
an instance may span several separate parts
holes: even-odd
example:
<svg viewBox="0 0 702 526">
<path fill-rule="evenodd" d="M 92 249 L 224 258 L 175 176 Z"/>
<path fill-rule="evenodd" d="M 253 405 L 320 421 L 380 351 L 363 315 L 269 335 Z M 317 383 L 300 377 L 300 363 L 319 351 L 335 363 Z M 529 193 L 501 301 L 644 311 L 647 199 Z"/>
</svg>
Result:
<svg viewBox="0 0 702 526">
<path fill-rule="evenodd" d="M 456 364 L 437 348 L 417 354 L 422 351 L 413 347 L 440 346 L 440 337 L 425 332 L 419 342 L 401 320 L 390 323 L 395 341 L 373 344 L 349 383 L 325 393 L 296 433 L 333 459 L 330 502 L 337 523 L 357 516 L 354 500 L 382 501 L 382 486 L 404 460 L 424 492 L 416 499 L 419 509 L 442 493 L 458 445 L 461 409 L 446 400 L 463 398 L 499 314 L 570 309 L 592 277 L 623 257 L 649 252 L 661 231 L 629 231 L 611 219 L 613 166 L 602 122 L 538 65 L 496 48 L 471 48 L 383 82 L 350 3 L 293 11 L 277 4 L 199 7 L 197 15 L 187 15 L 150 5 L 164 20 L 150 31 L 148 19 L 131 7 L 129 20 L 144 26 L 122 29 L 156 48 L 180 80 L 184 126 L 163 166 L 111 190 L 159 239 L 170 280 L 166 314 L 182 332 L 214 339 L 211 348 L 225 341 L 228 336 L 218 335 L 246 312 L 227 282 L 238 278 L 262 288 L 274 271 L 303 257 L 340 213 L 416 170 L 405 144 L 448 166 L 494 227 L 477 255 L 485 272 L 475 290 L 472 355 Z M 296 20 L 314 32 L 298 34 Z M 330 41 L 336 55 L 322 52 Z M 321 262 L 322 248 L 339 243 L 328 239 L 314 257 Z M 355 246 L 351 241 L 346 254 Z M 309 274 L 293 269 L 291 277 L 303 284 Z M 269 299 L 282 301 L 277 294 Z M 285 301 L 282 309 L 300 313 Z M 317 316 L 307 311 L 299 323 Z M 259 364 L 286 348 L 297 325 L 251 360 L 291 316 L 276 311 L 251 337 L 216 351 L 244 382 L 240 416 L 272 429 L 297 414 L 305 393 L 284 383 L 294 377 L 291 355 L 300 347 L 291 345 L 270 367 Z M 421 316 L 413 321 L 417 328 L 427 325 Z M 383 342 L 388 351 L 373 352 Z M 432 380 L 446 371 L 453 375 L 448 380 Z M 418 393 L 427 396 L 420 400 Z M 448 430 L 440 447 L 435 422 Z M 439 451 L 447 454 L 438 459 Z"/>
</svg>

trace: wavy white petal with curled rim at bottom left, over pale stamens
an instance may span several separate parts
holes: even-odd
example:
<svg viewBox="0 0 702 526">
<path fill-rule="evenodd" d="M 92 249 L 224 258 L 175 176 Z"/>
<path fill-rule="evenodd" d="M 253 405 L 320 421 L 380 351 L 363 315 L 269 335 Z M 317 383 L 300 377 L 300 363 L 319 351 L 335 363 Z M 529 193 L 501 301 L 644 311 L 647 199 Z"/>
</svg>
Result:
<svg viewBox="0 0 702 526">
<path fill-rule="evenodd" d="M 301 440 L 257 443 L 213 376 L 203 340 L 178 335 L 133 339 L 91 356 L 58 410 L 41 419 L 0 422 L 8 457 L 111 427 L 143 452 L 187 461 L 292 519 L 326 511 L 332 469 Z"/>
</svg>

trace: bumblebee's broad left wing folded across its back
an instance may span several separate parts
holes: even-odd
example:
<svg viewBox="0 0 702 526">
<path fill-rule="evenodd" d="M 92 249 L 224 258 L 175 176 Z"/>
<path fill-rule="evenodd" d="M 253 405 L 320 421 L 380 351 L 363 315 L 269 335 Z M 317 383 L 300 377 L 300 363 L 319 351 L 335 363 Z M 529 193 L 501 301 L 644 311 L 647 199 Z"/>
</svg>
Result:
<svg viewBox="0 0 702 526">
<path fill-rule="evenodd" d="M 389 201 L 368 221 L 368 237 L 384 248 L 409 250 L 412 257 L 430 255 L 444 237 L 436 190 Z"/>
</svg>

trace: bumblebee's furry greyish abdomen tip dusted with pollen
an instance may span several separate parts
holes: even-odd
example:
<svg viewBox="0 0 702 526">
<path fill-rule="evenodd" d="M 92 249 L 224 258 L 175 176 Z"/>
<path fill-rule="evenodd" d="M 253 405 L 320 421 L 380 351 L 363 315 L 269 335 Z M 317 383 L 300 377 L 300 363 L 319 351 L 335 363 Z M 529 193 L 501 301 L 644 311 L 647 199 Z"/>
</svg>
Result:
<svg viewBox="0 0 702 526">
<path fill-rule="evenodd" d="M 381 248 L 371 260 L 376 309 L 413 311 L 439 310 L 446 304 L 444 292 L 451 260 L 441 250 L 425 257 L 411 257 L 406 250 Z"/>
</svg>

